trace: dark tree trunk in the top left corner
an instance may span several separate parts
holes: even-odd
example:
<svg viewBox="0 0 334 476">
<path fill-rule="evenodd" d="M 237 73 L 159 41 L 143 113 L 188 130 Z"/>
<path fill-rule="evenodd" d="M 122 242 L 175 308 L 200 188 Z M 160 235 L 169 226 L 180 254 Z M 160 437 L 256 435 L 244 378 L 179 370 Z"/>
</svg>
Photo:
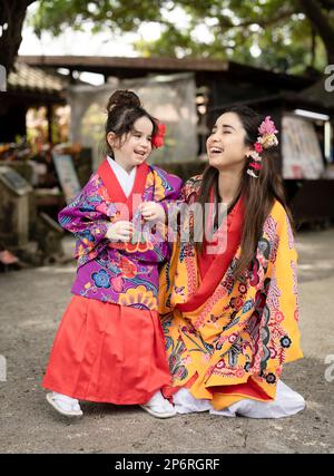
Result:
<svg viewBox="0 0 334 476">
<path fill-rule="evenodd" d="M 0 6 L 0 65 L 4 66 L 9 74 L 14 66 L 22 41 L 22 27 L 27 8 L 35 0 L 1 0 Z M 3 26 L 7 28 L 3 29 Z"/>
</svg>

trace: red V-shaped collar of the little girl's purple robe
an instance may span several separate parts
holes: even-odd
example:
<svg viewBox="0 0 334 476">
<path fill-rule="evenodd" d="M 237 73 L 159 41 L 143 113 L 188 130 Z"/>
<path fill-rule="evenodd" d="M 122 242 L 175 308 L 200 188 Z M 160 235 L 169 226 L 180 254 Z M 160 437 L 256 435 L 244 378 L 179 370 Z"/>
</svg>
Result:
<svg viewBox="0 0 334 476">
<path fill-rule="evenodd" d="M 127 197 L 118 182 L 115 172 L 110 167 L 107 158 L 101 163 L 97 173 L 101 177 L 109 197 L 114 203 L 124 203 L 129 210 L 129 221 L 132 218 L 132 195 L 143 195 L 146 185 L 147 174 L 149 172 L 148 165 L 144 162 L 137 166 L 136 178 L 130 195 Z"/>
</svg>

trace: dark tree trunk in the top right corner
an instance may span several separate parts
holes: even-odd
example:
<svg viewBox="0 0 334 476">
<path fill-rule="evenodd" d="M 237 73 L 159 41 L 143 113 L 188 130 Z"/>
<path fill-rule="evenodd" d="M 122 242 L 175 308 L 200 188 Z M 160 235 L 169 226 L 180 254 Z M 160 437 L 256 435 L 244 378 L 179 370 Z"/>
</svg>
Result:
<svg viewBox="0 0 334 476">
<path fill-rule="evenodd" d="M 323 13 L 321 3 L 316 0 L 299 0 L 299 4 L 324 42 L 328 65 L 334 65 L 334 28 Z"/>
</svg>

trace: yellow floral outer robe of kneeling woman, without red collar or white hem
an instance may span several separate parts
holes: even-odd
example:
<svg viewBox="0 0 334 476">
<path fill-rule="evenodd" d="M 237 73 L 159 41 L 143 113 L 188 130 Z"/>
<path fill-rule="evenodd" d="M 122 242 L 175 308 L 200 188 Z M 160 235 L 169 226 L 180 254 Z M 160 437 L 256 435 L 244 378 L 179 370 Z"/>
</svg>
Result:
<svg viewBox="0 0 334 476">
<path fill-rule="evenodd" d="M 187 201 L 191 182 L 185 187 Z M 264 223 L 255 260 L 235 280 L 232 271 L 239 255 L 240 247 L 213 294 L 195 311 L 177 309 L 200 284 L 194 245 L 175 244 L 160 273 L 159 311 L 173 376 L 170 390 L 187 387 L 195 398 L 209 399 L 215 409 L 243 398 L 273 400 L 283 363 L 303 357 L 297 254 L 279 202 Z"/>
</svg>

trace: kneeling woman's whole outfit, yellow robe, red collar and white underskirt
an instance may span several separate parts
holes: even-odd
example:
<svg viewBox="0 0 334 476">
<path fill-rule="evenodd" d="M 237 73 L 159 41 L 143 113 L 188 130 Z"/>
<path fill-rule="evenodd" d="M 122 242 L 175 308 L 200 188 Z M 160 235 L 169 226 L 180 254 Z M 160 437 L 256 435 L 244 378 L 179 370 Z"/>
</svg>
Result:
<svg viewBox="0 0 334 476">
<path fill-rule="evenodd" d="M 197 176 L 185 184 L 187 204 L 197 201 L 200 183 Z M 204 243 L 203 254 L 194 243 L 179 240 L 160 274 L 159 310 L 173 375 L 164 395 L 174 395 L 180 412 L 235 416 L 229 408 L 244 400 L 254 404 L 253 415 L 246 415 L 278 418 L 305 406 L 303 397 L 279 380 L 283 363 L 303 357 L 297 255 L 287 214 L 276 201 L 252 265 L 236 280 L 243 221 L 240 196 L 214 241 Z M 225 251 L 208 253 L 222 230 Z"/>
</svg>

